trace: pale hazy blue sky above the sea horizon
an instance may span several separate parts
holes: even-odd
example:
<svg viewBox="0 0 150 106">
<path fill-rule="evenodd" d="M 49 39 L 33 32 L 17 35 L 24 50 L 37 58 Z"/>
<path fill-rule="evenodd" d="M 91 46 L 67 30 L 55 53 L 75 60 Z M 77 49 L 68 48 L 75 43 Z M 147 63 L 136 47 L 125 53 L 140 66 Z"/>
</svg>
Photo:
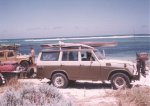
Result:
<svg viewBox="0 0 150 106">
<path fill-rule="evenodd" d="M 0 39 L 150 34 L 150 0 L 0 0 Z"/>
</svg>

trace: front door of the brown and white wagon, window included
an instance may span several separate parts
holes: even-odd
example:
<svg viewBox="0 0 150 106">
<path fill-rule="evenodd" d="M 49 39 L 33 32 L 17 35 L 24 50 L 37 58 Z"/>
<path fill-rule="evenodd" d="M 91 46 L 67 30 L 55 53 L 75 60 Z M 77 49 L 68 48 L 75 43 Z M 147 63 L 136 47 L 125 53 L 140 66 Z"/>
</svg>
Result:
<svg viewBox="0 0 150 106">
<path fill-rule="evenodd" d="M 82 80 L 98 80 L 100 63 L 94 57 L 92 51 L 80 52 L 80 78 Z"/>
</svg>

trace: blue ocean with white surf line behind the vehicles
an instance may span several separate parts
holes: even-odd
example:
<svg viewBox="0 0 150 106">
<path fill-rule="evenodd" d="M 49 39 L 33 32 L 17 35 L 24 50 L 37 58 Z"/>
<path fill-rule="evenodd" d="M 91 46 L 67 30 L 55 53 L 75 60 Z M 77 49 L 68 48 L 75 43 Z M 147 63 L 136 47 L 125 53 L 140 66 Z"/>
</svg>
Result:
<svg viewBox="0 0 150 106">
<path fill-rule="evenodd" d="M 19 52 L 29 54 L 33 47 L 36 55 L 41 50 L 41 44 L 63 42 L 117 42 L 115 47 L 98 47 L 105 50 L 107 58 L 119 58 L 135 60 L 136 53 L 147 52 L 150 55 L 150 34 L 134 35 L 104 35 L 104 36 L 80 36 L 80 37 L 56 37 L 56 38 L 28 38 L 28 39 L 0 39 L 0 44 L 20 44 Z"/>
</svg>

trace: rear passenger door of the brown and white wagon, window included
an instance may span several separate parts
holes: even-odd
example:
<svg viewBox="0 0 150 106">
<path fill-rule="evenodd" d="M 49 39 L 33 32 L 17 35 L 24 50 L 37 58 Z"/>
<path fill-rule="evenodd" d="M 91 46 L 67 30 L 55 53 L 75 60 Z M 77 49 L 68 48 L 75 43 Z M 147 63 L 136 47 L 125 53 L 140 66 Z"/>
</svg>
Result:
<svg viewBox="0 0 150 106">
<path fill-rule="evenodd" d="M 67 73 L 70 80 L 79 79 L 78 51 L 62 51 L 61 70 Z"/>
</svg>

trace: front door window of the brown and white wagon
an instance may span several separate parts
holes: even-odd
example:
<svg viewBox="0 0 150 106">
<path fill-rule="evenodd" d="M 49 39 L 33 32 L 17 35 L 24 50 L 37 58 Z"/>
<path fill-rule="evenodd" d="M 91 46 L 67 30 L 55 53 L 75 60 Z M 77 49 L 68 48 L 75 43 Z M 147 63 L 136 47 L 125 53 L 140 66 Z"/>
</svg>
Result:
<svg viewBox="0 0 150 106">
<path fill-rule="evenodd" d="M 95 58 L 92 56 L 90 51 L 81 51 L 81 60 L 82 61 L 95 61 Z"/>
</svg>

